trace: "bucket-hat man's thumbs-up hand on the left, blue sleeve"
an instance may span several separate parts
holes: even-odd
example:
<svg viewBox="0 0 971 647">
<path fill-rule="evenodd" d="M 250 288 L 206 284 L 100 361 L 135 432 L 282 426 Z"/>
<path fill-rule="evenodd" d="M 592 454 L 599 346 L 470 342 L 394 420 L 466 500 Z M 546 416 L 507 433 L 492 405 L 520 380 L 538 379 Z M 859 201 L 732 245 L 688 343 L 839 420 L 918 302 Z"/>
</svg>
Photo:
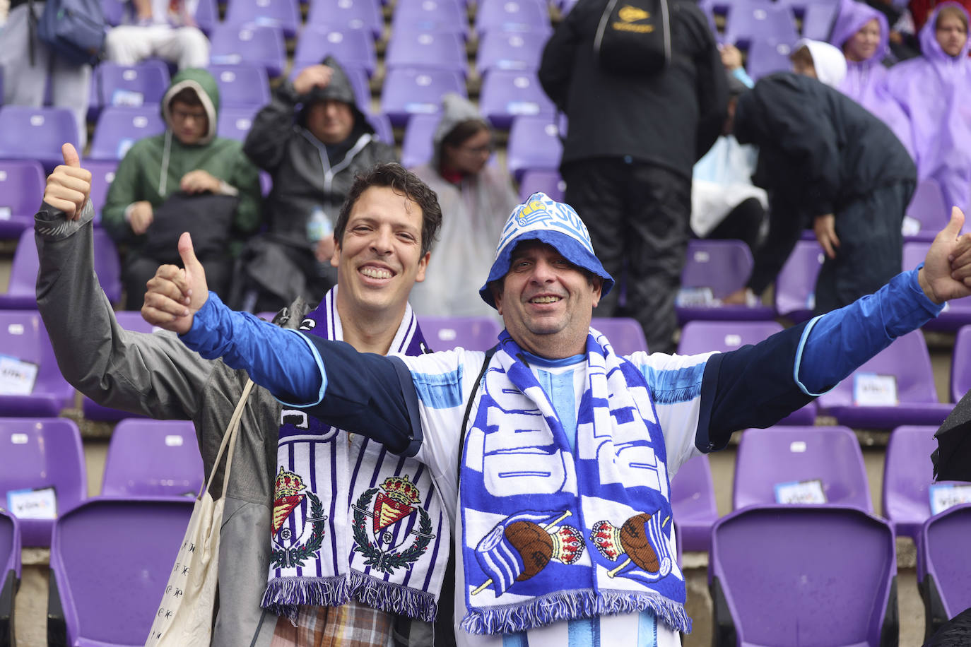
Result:
<svg viewBox="0 0 971 647">
<path fill-rule="evenodd" d="M 179 239 L 179 255 L 184 269 L 163 265 L 146 284 L 142 318 L 153 326 L 184 335 L 192 327 L 196 311 L 209 299 L 209 286 L 188 232 Z"/>
</svg>

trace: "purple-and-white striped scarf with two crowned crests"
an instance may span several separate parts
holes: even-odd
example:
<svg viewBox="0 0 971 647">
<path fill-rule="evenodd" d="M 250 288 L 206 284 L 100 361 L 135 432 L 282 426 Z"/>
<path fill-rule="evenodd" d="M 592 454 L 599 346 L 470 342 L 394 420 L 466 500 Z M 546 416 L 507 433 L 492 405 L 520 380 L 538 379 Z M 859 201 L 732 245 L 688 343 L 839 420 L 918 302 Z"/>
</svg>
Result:
<svg viewBox="0 0 971 647">
<path fill-rule="evenodd" d="M 342 340 L 337 288 L 300 330 Z M 391 352 L 428 352 L 409 306 Z M 368 606 L 431 621 L 450 527 L 428 469 L 377 441 L 281 413 L 270 574 L 263 606 L 296 620 L 301 604 Z"/>
</svg>

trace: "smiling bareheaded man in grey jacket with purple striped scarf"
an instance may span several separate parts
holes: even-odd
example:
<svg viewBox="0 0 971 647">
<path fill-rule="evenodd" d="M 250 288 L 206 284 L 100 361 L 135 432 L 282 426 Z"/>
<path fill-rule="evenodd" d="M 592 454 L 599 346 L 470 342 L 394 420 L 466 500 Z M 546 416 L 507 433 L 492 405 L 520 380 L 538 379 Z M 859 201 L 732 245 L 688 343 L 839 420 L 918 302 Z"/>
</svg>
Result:
<svg viewBox="0 0 971 647">
<path fill-rule="evenodd" d="M 90 174 L 72 146 L 64 154 L 36 218 L 38 307 L 58 365 L 99 404 L 192 420 L 208 473 L 247 375 L 173 335 L 117 326 L 91 269 Z M 297 300 L 276 322 L 360 352 L 427 352 L 408 295 L 441 220 L 435 193 L 397 164 L 356 178 L 335 229 L 338 285 L 316 309 Z M 173 272 L 159 269 L 150 285 Z M 419 461 L 256 387 L 225 497 L 213 645 L 430 643 L 450 527 Z"/>
</svg>

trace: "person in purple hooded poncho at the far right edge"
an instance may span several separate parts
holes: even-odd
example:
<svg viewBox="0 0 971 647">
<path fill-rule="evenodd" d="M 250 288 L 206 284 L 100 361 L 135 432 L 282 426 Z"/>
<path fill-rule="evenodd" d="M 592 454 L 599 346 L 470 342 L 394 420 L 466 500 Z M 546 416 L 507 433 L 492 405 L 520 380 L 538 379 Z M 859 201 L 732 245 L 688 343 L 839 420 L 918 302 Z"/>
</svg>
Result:
<svg viewBox="0 0 971 647">
<path fill-rule="evenodd" d="M 887 73 L 887 90 L 910 118 L 918 180 L 932 178 L 945 204 L 971 202 L 971 62 L 968 14 L 941 3 L 921 29 L 920 58 Z"/>
</svg>

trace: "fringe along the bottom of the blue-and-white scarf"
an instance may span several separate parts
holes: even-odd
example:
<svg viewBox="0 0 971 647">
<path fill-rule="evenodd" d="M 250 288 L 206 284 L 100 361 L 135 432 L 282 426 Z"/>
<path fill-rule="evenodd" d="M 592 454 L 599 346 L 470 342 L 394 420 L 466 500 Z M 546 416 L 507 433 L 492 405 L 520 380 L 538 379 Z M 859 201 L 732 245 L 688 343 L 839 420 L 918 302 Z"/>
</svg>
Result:
<svg viewBox="0 0 971 647">
<path fill-rule="evenodd" d="M 468 609 L 461 627 L 476 634 L 514 633 L 561 620 L 640 611 L 651 611 L 674 631 L 691 632 L 691 619 L 680 602 L 660 595 L 592 591 L 559 591 L 522 604 Z"/>
</svg>

